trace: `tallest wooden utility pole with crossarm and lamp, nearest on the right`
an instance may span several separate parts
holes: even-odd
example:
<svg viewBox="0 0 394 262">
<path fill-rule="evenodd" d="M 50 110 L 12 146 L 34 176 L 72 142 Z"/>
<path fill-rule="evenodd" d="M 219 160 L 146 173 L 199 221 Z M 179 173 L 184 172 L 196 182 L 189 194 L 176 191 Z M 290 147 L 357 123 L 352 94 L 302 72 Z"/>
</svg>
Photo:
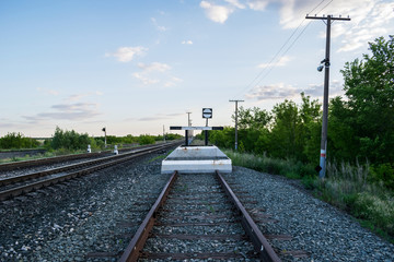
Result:
<svg viewBox="0 0 394 262">
<path fill-rule="evenodd" d="M 328 126 L 328 86 L 329 86 L 329 41 L 331 41 L 331 24 L 336 20 L 350 21 L 348 17 L 334 17 L 333 15 L 327 16 L 309 16 L 305 19 L 323 20 L 326 21 L 327 33 L 326 33 L 326 53 L 324 60 L 321 61 L 321 66 L 317 71 L 323 70 L 324 64 L 324 96 L 323 96 L 323 123 L 322 123 L 322 141 L 321 141 L 321 155 L 320 166 L 316 167 L 318 170 L 318 177 L 324 178 L 326 171 L 326 155 L 327 155 L 327 126 Z"/>
</svg>

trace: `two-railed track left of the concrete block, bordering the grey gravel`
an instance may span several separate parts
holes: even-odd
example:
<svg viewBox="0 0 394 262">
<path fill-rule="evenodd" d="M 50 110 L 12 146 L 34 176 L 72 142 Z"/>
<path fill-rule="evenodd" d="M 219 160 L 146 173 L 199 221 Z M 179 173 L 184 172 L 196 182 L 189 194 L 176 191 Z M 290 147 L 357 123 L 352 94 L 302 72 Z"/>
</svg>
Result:
<svg viewBox="0 0 394 262">
<path fill-rule="evenodd" d="M 18 196 L 34 190 L 38 190 L 43 187 L 48 187 L 50 184 L 55 184 L 76 177 L 84 176 L 109 166 L 128 162 L 142 155 L 173 147 L 177 144 L 179 144 L 179 142 L 146 146 L 119 155 L 101 157 L 97 159 L 85 160 L 82 163 L 62 166 L 59 168 L 53 168 L 27 175 L 0 179 L 0 201 Z"/>
</svg>

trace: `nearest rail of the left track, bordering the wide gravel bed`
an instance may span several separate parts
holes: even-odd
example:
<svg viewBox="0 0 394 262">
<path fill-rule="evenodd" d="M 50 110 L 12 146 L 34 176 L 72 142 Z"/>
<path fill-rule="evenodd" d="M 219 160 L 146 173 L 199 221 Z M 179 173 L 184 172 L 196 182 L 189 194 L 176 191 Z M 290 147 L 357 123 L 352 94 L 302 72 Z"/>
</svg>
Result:
<svg viewBox="0 0 394 262">
<path fill-rule="evenodd" d="M 18 196 L 18 195 L 21 195 L 23 193 L 40 189 L 43 187 L 47 187 L 47 186 L 55 184 L 55 183 L 58 183 L 58 182 L 61 182 L 61 181 L 65 181 L 65 180 L 69 180 L 71 178 L 88 175 L 88 174 L 91 174 L 93 171 L 96 171 L 96 170 L 100 170 L 100 169 L 103 169 L 103 168 L 106 168 L 106 167 L 109 167 L 109 166 L 114 166 L 114 165 L 127 162 L 129 159 L 132 159 L 132 158 L 136 158 L 136 157 L 139 157 L 139 156 L 143 156 L 143 155 L 147 155 L 147 154 L 150 154 L 150 153 L 153 153 L 153 152 L 157 152 L 157 151 L 160 151 L 160 150 L 163 150 L 165 147 L 173 146 L 173 145 L 174 144 L 171 143 L 171 144 L 160 145 L 160 146 L 157 146 L 154 148 L 150 147 L 150 148 L 141 150 L 139 152 L 134 152 L 132 154 L 131 153 L 128 154 L 128 155 L 125 154 L 126 156 L 120 157 L 120 158 L 115 158 L 115 159 L 114 159 L 113 156 L 111 156 L 109 158 L 106 158 L 107 162 L 105 162 L 103 164 L 95 165 L 93 167 L 88 167 L 88 168 L 84 168 L 84 169 L 81 169 L 81 170 L 78 170 L 78 171 L 74 171 L 74 172 L 66 174 L 66 175 L 62 175 L 62 176 L 58 176 L 58 177 L 55 177 L 55 178 L 48 178 L 48 179 L 44 179 L 44 180 L 40 180 L 40 181 L 37 181 L 37 182 L 33 182 L 33 183 L 28 183 L 28 184 L 25 184 L 25 186 L 21 186 L 21 187 L 12 188 L 12 189 L 9 189 L 9 190 L 0 191 L 0 201 L 7 200 L 7 199 L 9 199 L 11 196 Z"/>
</svg>

